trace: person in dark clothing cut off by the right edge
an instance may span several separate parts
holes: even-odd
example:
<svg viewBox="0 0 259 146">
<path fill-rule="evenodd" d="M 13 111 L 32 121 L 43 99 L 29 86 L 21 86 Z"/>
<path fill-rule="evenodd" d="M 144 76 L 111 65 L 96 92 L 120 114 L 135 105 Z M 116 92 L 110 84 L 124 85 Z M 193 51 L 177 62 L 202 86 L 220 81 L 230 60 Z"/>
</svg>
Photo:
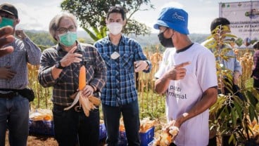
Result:
<svg viewBox="0 0 259 146">
<path fill-rule="evenodd" d="M 259 41 L 253 44 L 255 53 L 253 54 L 253 87 L 259 91 Z"/>
</svg>

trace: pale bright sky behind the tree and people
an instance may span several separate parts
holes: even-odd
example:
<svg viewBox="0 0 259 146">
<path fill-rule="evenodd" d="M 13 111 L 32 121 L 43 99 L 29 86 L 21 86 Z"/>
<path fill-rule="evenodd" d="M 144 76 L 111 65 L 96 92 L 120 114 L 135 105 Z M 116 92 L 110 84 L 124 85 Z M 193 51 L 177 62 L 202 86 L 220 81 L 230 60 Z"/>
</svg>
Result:
<svg viewBox="0 0 259 146">
<path fill-rule="evenodd" d="M 2 3 L 13 4 L 18 8 L 20 24 L 18 29 L 48 30 L 49 22 L 54 15 L 61 12 L 62 0 L 0 0 Z M 199 34 L 210 33 L 210 22 L 219 16 L 219 3 L 249 0 L 151 0 L 156 9 L 138 11 L 132 17 L 151 27 L 152 32 L 160 10 L 165 6 L 183 8 L 189 13 L 189 32 Z M 255 0 L 253 0 L 255 1 Z"/>
</svg>

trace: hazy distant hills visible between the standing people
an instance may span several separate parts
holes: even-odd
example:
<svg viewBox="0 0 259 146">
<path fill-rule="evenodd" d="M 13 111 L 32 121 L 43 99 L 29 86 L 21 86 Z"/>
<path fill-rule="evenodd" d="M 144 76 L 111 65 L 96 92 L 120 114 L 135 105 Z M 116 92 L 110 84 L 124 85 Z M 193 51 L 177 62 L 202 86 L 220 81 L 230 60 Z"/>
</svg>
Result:
<svg viewBox="0 0 259 146">
<path fill-rule="evenodd" d="M 56 44 L 56 41 L 52 39 L 49 32 L 39 31 L 39 30 L 27 30 L 25 31 L 27 35 L 35 42 L 35 44 L 42 46 L 53 46 Z M 206 40 L 210 34 L 189 34 L 191 41 L 201 43 Z M 86 43 L 94 44 L 94 41 L 91 37 L 84 31 L 77 31 L 78 38 L 82 38 Z M 135 39 L 139 42 L 142 47 L 149 47 L 159 44 L 158 34 L 146 34 L 145 36 L 135 36 L 130 34 L 132 39 Z"/>
</svg>

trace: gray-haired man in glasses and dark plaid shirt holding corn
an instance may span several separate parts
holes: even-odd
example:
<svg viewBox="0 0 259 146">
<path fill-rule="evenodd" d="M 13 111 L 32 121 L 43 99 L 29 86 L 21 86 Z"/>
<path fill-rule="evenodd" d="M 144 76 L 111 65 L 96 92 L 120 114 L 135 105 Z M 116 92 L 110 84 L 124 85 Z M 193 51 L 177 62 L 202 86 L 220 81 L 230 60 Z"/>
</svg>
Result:
<svg viewBox="0 0 259 146">
<path fill-rule="evenodd" d="M 77 39 L 77 21 L 70 13 L 56 15 L 49 24 L 49 32 L 58 44 L 42 53 L 39 83 L 53 87 L 53 122 L 58 145 L 98 145 L 99 108 L 86 117 L 83 110 L 71 108 L 70 95 L 77 91 L 80 67 L 87 69 L 84 97 L 99 96 L 106 82 L 106 64 L 94 46 L 81 44 Z M 82 108 L 81 108 L 82 109 Z M 77 140 L 77 138 L 79 138 Z"/>
</svg>

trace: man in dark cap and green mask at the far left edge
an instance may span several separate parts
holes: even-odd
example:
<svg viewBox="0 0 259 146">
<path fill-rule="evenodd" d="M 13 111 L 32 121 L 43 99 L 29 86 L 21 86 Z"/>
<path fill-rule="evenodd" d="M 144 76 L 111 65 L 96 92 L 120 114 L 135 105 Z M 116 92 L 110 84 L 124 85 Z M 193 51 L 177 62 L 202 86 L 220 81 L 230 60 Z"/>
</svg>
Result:
<svg viewBox="0 0 259 146">
<path fill-rule="evenodd" d="M 29 125 L 29 96 L 26 94 L 33 94 L 27 88 L 27 63 L 39 65 L 42 53 L 23 30 L 15 30 L 20 22 L 15 6 L 0 4 L 0 16 L 0 29 L 10 31 L 13 27 L 15 33 L 15 40 L 2 46 L 13 48 L 13 52 L 0 58 L 0 145 L 5 145 L 8 129 L 9 144 L 25 146 Z"/>
</svg>

